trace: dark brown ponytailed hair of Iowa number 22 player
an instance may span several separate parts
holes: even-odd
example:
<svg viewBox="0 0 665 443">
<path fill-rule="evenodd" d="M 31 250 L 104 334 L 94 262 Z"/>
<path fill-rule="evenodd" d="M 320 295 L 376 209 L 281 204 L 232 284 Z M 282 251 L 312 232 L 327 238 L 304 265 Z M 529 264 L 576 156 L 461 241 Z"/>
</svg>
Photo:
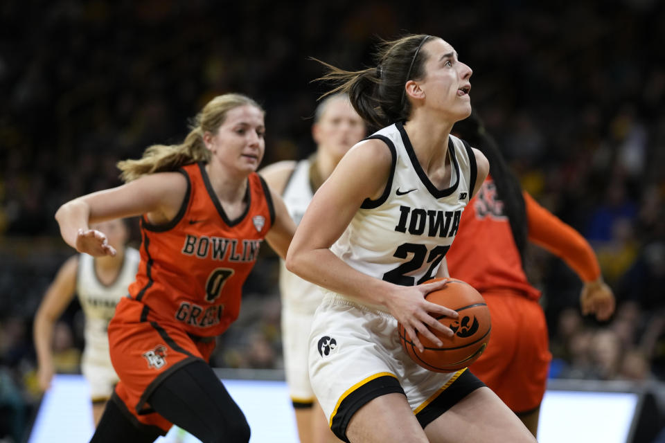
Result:
<svg viewBox="0 0 665 443">
<path fill-rule="evenodd" d="M 314 58 L 328 69 L 316 80 L 335 84 L 335 88 L 321 98 L 332 93 L 347 93 L 353 108 L 371 126 L 384 127 L 407 120 L 411 103 L 405 99 L 405 84 L 423 78 L 427 53 L 420 51 L 420 47 L 429 38 L 433 37 L 416 34 L 381 41 L 374 55 L 376 66 L 361 71 L 345 71 Z"/>
</svg>

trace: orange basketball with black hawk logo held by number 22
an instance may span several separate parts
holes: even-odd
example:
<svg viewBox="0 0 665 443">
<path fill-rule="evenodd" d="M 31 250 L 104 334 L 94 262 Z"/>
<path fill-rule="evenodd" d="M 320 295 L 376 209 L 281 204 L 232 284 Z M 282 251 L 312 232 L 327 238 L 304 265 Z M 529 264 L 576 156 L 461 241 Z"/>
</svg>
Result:
<svg viewBox="0 0 665 443">
<path fill-rule="evenodd" d="M 434 278 L 426 283 L 438 280 L 443 279 Z M 447 337 L 432 330 L 443 342 L 441 347 L 423 336 L 418 336 L 425 347 L 425 350 L 420 352 L 407 336 L 404 327 L 398 324 L 400 343 L 405 352 L 423 368 L 436 372 L 454 372 L 476 361 L 487 347 L 492 330 L 490 310 L 480 293 L 470 284 L 453 278 L 443 289 L 428 293 L 425 299 L 459 313 L 459 318 L 456 319 L 446 316 L 438 318 L 439 322 L 450 327 L 455 334 Z"/>
</svg>

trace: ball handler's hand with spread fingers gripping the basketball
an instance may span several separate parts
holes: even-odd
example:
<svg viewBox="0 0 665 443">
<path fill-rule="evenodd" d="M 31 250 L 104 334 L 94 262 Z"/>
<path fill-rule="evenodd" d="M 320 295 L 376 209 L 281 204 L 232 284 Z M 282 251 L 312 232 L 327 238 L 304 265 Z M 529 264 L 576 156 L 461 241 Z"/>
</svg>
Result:
<svg viewBox="0 0 665 443">
<path fill-rule="evenodd" d="M 447 284 L 447 280 L 418 284 L 412 287 L 396 286 L 398 290 L 393 293 L 393 296 L 389 297 L 387 302 L 391 314 L 402 324 L 409 336 L 413 338 L 414 345 L 420 352 L 425 347 L 420 343 L 418 334 L 436 343 L 438 346 L 443 344 L 432 330 L 429 329 L 430 327 L 443 336 L 454 335 L 452 329 L 439 322 L 437 317 L 447 316 L 458 318 L 459 315 L 457 312 L 425 300 L 427 293 L 442 289 L 445 287 L 445 284 Z M 418 334 L 416 334 L 416 331 L 418 331 Z"/>
</svg>

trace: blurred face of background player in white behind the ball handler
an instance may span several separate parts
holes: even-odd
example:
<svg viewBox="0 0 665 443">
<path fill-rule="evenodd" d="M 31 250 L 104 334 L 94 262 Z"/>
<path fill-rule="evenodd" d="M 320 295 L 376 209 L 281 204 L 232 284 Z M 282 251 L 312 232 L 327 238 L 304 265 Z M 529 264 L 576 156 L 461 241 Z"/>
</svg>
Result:
<svg viewBox="0 0 665 443">
<path fill-rule="evenodd" d="M 346 151 L 365 136 L 365 124 L 351 102 L 337 98 L 328 102 L 319 121 L 312 127 L 312 136 L 323 154 L 342 159 Z"/>
</svg>

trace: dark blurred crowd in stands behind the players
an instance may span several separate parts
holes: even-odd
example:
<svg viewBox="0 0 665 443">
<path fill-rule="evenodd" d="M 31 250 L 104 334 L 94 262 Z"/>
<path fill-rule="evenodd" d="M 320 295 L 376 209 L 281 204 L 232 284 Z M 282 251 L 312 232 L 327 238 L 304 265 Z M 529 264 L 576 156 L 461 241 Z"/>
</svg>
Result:
<svg viewBox="0 0 665 443">
<path fill-rule="evenodd" d="M 31 322 L 73 254 L 53 214 L 115 186 L 116 161 L 180 140 L 212 96 L 267 110 L 263 165 L 312 152 L 325 91 L 310 57 L 355 67 L 378 37 L 441 35 L 474 70 L 472 104 L 522 184 L 591 242 L 617 312 L 578 309 L 581 283 L 530 246 L 551 377 L 665 381 L 665 5 L 657 0 L 432 2 L 4 1 L 0 6 L 0 441 L 19 442 L 39 401 Z M 134 233 L 137 232 L 134 226 Z M 135 246 L 138 238 L 134 235 Z M 247 282 L 213 365 L 281 368 L 276 257 Z M 77 372 L 76 302 L 55 334 Z M 10 411 L 11 413 L 6 413 Z M 13 440 L 10 440 L 13 439 Z"/>
</svg>

